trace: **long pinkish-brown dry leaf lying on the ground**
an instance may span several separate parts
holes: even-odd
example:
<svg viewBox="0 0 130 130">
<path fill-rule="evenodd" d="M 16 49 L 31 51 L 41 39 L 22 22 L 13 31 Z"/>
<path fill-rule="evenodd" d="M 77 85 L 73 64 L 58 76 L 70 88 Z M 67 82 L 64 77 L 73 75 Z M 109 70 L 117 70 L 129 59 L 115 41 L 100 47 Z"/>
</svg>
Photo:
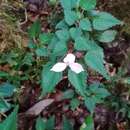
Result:
<svg viewBox="0 0 130 130">
<path fill-rule="evenodd" d="M 44 110 L 47 106 L 52 104 L 53 101 L 53 99 L 44 99 L 32 106 L 25 114 L 37 116 L 42 112 L 42 110 Z"/>
</svg>

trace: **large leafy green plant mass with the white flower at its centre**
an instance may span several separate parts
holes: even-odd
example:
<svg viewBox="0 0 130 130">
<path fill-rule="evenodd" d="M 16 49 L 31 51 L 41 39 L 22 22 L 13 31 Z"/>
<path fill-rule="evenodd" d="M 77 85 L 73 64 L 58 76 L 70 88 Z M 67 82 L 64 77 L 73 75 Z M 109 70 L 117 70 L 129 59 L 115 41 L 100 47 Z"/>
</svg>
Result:
<svg viewBox="0 0 130 130">
<path fill-rule="evenodd" d="M 42 94 L 53 92 L 67 76 L 91 113 L 86 121 L 89 123 L 93 122 L 96 104 L 102 103 L 110 93 L 99 82 L 87 83 L 88 70 L 111 80 L 104 66 L 103 46 L 115 39 L 117 32 L 111 28 L 122 24 L 111 14 L 95 10 L 96 3 L 96 0 L 60 0 L 64 17 L 56 25 L 55 32 L 41 33 L 38 21 L 29 31 L 33 40 L 38 39 L 37 45 L 30 44 L 36 55 L 48 61 L 42 70 Z M 93 129 L 91 125 L 90 128 L 83 125 L 81 129 Z"/>
</svg>

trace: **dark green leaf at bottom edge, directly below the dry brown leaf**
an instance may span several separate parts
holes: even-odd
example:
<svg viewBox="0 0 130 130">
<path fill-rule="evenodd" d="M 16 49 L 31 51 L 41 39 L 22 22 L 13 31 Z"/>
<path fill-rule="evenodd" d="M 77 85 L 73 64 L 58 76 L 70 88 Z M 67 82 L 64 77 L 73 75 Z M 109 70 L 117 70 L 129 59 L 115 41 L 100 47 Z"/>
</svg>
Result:
<svg viewBox="0 0 130 130">
<path fill-rule="evenodd" d="M 38 117 L 36 120 L 36 130 L 45 130 L 46 123 L 43 121 L 41 117 Z"/>
</svg>

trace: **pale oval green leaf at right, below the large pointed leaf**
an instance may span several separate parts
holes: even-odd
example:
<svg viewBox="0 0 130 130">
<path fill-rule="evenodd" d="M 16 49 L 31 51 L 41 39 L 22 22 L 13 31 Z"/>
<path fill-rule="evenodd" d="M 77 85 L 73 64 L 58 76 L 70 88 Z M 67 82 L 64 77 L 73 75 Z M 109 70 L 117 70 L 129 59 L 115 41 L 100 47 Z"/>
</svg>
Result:
<svg viewBox="0 0 130 130">
<path fill-rule="evenodd" d="M 115 36 L 117 34 L 117 31 L 114 30 L 107 30 L 101 34 L 98 35 L 98 40 L 100 42 L 112 42 L 115 39 Z"/>
</svg>

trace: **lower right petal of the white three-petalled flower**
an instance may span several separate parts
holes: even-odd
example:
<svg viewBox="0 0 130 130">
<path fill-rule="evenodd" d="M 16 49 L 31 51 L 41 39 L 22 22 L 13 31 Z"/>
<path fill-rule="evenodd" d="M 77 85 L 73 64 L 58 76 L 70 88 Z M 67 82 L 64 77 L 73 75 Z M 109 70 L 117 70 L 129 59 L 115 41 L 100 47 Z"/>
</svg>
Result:
<svg viewBox="0 0 130 130">
<path fill-rule="evenodd" d="M 74 71 L 77 74 L 84 71 L 82 65 L 80 65 L 79 63 L 71 63 L 69 64 L 69 67 L 71 68 L 72 71 Z"/>
</svg>

